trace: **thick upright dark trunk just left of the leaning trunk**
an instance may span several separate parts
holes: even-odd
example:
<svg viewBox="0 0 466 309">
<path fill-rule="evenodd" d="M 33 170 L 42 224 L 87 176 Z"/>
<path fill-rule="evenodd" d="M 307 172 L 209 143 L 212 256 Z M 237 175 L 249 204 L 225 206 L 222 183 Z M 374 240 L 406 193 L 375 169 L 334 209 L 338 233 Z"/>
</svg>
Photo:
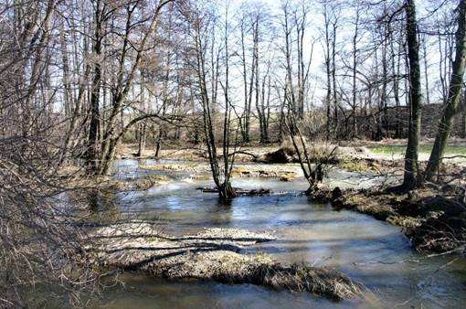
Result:
<svg viewBox="0 0 466 309">
<path fill-rule="evenodd" d="M 422 94 L 420 85 L 418 22 L 416 19 L 416 6 L 414 0 L 407 0 L 406 32 L 409 61 L 409 121 L 408 121 L 408 147 L 405 155 L 405 175 L 403 186 L 412 188 L 418 186 L 418 148 L 420 137 L 420 113 Z"/>
</svg>

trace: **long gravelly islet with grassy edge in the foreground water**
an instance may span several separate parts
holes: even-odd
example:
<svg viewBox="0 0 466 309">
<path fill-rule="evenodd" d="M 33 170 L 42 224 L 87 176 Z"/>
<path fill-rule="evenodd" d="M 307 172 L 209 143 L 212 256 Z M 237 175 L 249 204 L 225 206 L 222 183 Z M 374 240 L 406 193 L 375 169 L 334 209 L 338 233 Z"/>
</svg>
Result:
<svg viewBox="0 0 466 309">
<path fill-rule="evenodd" d="M 362 293 L 359 284 L 333 269 L 284 264 L 266 254 L 244 253 L 246 247 L 270 240 L 274 237 L 268 233 L 242 229 L 204 229 L 171 236 L 155 225 L 132 223 L 95 230 L 91 248 L 97 252 L 95 262 L 102 266 L 169 280 L 251 283 L 335 300 Z"/>
</svg>

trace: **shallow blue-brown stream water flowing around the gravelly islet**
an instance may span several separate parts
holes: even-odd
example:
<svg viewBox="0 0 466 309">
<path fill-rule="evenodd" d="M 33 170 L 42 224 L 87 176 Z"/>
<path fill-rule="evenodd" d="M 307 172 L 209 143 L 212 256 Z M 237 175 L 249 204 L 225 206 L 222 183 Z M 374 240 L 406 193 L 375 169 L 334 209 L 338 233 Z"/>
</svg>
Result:
<svg viewBox="0 0 466 309">
<path fill-rule="evenodd" d="M 144 162 L 145 165 L 150 164 Z M 120 161 L 117 175 L 140 176 L 138 162 Z M 151 172 L 159 173 L 159 172 Z M 362 282 L 364 301 L 334 303 L 309 293 L 276 292 L 250 284 L 166 282 L 138 273 L 124 273 L 126 287 L 104 293 L 99 306 L 108 308 L 304 308 L 304 307 L 423 307 L 459 308 L 466 304 L 466 262 L 454 256 L 423 258 L 409 246 L 397 227 L 351 211 L 336 211 L 299 194 L 303 179 L 240 178 L 241 188 L 269 187 L 274 195 L 237 197 L 221 205 L 216 194 L 203 193 L 188 173 L 146 191 L 121 193 L 102 205 L 101 216 L 156 219 L 171 233 L 221 227 L 272 231 L 277 240 L 246 249 L 267 252 L 278 261 L 308 261 L 332 266 Z M 334 175 L 334 177 L 338 177 Z M 358 185 L 361 185 L 359 181 Z"/>
</svg>

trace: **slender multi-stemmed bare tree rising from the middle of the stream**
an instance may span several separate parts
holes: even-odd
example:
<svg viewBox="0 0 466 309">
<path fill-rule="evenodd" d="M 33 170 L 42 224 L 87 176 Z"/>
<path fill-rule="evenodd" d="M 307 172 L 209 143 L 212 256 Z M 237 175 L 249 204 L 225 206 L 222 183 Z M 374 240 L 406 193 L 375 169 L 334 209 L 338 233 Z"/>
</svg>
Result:
<svg viewBox="0 0 466 309">
<path fill-rule="evenodd" d="M 212 13 L 208 11 L 201 11 L 199 7 L 192 4 L 186 10 L 186 17 L 192 27 L 192 36 L 194 40 L 193 53 L 194 53 L 194 70 L 196 73 L 197 80 L 197 91 L 199 93 L 199 100 L 203 110 L 204 120 L 204 135 L 207 145 L 207 154 L 209 159 L 210 168 L 214 183 L 217 187 L 218 196 L 222 200 L 228 200 L 232 197 L 236 197 L 235 189 L 231 186 L 230 177 L 231 171 L 235 161 L 235 150 L 237 139 L 233 142 L 233 152 L 231 152 L 231 113 L 232 104 L 230 99 L 230 85 L 229 85 L 229 65 L 231 58 L 229 52 L 229 31 L 230 26 L 228 22 L 228 5 L 225 8 L 225 21 L 223 28 L 223 67 L 224 79 L 221 80 L 220 76 L 220 55 L 222 49 L 217 45 L 218 42 L 215 39 L 215 18 Z M 209 60 L 210 57 L 210 60 Z M 207 67 L 210 64 L 210 67 Z M 211 71 L 211 80 L 209 82 L 207 69 Z M 208 85 L 211 85 L 211 91 L 208 91 Z M 216 138 L 216 119 L 213 106 L 217 104 L 218 97 L 218 86 L 224 93 L 224 111 L 222 130 L 220 134 L 222 136 L 222 157 L 223 165 L 220 166 L 217 151 L 217 138 Z M 210 94 L 209 94 L 210 93 Z"/>
</svg>

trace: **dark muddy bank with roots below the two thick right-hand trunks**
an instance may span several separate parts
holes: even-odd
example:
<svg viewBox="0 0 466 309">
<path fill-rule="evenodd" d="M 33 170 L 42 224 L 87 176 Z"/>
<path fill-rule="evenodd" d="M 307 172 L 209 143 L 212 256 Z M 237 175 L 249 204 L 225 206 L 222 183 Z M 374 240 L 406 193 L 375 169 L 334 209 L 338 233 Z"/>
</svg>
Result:
<svg viewBox="0 0 466 309">
<path fill-rule="evenodd" d="M 342 191 L 337 187 L 314 189 L 308 195 L 330 202 L 334 208 L 355 210 L 402 227 L 418 251 L 464 253 L 466 205 L 461 188 L 423 188 L 397 194 L 389 190 Z"/>
</svg>

